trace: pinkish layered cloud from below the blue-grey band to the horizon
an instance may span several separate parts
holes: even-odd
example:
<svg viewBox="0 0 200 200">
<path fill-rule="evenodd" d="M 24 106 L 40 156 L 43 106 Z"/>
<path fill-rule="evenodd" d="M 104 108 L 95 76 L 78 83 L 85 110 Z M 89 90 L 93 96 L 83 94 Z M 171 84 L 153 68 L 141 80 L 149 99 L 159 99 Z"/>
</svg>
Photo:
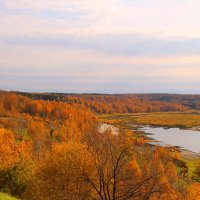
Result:
<svg viewBox="0 0 200 200">
<path fill-rule="evenodd" d="M 198 93 L 200 84 L 200 56 L 127 57 L 72 49 L 12 47 L 5 47 L 0 54 L 2 89 Z"/>
</svg>

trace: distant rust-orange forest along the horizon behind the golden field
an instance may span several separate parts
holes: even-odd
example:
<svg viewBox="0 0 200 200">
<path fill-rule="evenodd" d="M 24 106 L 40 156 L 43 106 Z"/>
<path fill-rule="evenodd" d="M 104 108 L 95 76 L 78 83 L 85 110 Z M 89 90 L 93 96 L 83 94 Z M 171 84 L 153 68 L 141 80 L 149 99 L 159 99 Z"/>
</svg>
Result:
<svg viewBox="0 0 200 200">
<path fill-rule="evenodd" d="M 80 104 L 96 113 L 169 112 L 198 109 L 198 101 L 162 94 L 62 94 L 19 93 L 32 99 Z M 191 95 L 192 96 L 192 95 Z M 173 98 L 172 98 L 173 97 Z M 199 97 L 200 98 L 200 97 Z M 185 99 L 184 101 L 182 99 Z"/>
</svg>

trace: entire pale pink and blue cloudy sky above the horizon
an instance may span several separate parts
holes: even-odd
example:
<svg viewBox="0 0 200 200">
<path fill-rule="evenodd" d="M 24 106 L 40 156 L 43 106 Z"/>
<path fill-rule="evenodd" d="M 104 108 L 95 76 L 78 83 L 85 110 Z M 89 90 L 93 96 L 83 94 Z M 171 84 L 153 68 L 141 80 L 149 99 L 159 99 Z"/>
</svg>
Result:
<svg viewBox="0 0 200 200">
<path fill-rule="evenodd" d="M 200 93 L 199 0 L 0 0 L 0 89 Z"/>
</svg>

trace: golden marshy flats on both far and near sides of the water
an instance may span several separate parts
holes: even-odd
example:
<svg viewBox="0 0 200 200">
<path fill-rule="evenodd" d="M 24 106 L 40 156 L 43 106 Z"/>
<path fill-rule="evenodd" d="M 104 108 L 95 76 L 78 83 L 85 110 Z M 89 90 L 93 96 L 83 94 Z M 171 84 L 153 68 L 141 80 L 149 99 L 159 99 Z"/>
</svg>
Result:
<svg viewBox="0 0 200 200">
<path fill-rule="evenodd" d="M 107 114 L 100 115 L 102 122 L 112 124 L 119 129 L 128 129 L 134 131 L 138 137 L 148 136 L 139 129 L 144 125 L 152 125 L 156 127 L 181 128 L 199 131 L 200 128 L 200 112 L 158 112 L 158 113 L 131 113 L 131 114 Z M 198 133 L 197 133 L 198 134 Z M 188 167 L 189 175 L 195 180 L 200 181 L 196 176 L 196 167 L 200 162 L 200 153 L 180 149 L 180 158 Z"/>
</svg>

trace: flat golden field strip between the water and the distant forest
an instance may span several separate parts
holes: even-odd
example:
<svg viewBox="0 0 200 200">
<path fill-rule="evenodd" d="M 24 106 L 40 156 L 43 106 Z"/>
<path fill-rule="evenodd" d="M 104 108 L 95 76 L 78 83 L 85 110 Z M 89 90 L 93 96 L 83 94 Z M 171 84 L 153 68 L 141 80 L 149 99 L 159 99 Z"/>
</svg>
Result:
<svg viewBox="0 0 200 200">
<path fill-rule="evenodd" d="M 192 128 L 200 126 L 200 112 L 158 112 L 158 113 L 133 113 L 123 115 L 101 115 L 105 123 L 115 125 L 137 124 L 168 127 Z"/>
</svg>

